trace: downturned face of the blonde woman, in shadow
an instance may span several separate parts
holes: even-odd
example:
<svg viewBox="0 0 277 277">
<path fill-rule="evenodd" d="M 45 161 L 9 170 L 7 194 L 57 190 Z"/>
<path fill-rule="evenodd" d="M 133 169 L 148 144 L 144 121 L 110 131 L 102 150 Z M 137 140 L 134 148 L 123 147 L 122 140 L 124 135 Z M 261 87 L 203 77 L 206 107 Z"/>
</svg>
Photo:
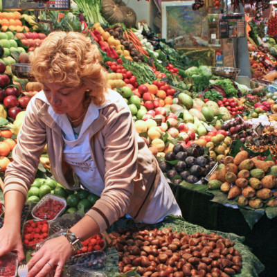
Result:
<svg viewBox="0 0 277 277">
<path fill-rule="evenodd" d="M 66 87 L 60 82 L 43 83 L 44 94 L 56 114 L 78 114 L 83 111 L 82 101 L 87 88 Z"/>
</svg>

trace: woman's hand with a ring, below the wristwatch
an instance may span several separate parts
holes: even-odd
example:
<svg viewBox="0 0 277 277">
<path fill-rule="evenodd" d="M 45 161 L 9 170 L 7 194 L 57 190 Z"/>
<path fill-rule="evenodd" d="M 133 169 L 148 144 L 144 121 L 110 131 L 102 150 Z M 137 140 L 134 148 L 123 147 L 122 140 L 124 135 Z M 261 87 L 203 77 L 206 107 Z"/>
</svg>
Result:
<svg viewBox="0 0 277 277">
<path fill-rule="evenodd" d="M 28 262 L 28 277 L 46 276 L 54 268 L 54 277 L 59 277 L 71 254 L 71 244 L 64 235 L 48 240 L 39 251 L 32 254 L 33 258 Z"/>
</svg>

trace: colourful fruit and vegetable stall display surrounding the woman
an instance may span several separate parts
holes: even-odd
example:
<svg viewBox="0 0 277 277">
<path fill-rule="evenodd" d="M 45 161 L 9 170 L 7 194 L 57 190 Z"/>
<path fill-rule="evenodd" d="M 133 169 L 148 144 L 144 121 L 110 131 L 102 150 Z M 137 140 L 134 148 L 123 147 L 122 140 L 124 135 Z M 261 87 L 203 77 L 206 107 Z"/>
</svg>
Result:
<svg viewBox="0 0 277 277">
<path fill-rule="evenodd" d="M 209 2 L 196 0 L 193 10 L 218 14 L 220 1 Z M 121 218 L 83 242 L 64 276 L 276 276 L 275 13 L 259 17 L 261 2 L 247 23 L 246 84 L 240 69 L 199 64 L 179 51 L 123 1 L 48 4 L 3 1 L 0 12 L 0 188 L 28 102 L 42 90 L 29 55 L 52 29 L 75 30 L 98 46 L 109 86 L 127 102 L 183 213 L 149 226 Z M 99 198 L 67 190 L 50 168 L 45 148 L 21 217 L 26 261 Z M 0 228 L 4 206 L 0 190 Z M 16 257 L 0 258 L 0 276 L 16 274 Z"/>
</svg>

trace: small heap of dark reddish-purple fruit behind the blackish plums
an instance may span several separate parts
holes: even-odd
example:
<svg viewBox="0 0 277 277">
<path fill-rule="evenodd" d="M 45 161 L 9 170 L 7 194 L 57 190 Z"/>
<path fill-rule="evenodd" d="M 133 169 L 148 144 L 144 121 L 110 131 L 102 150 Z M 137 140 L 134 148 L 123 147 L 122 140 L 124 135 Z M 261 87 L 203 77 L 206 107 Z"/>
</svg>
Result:
<svg viewBox="0 0 277 277">
<path fill-rule="evenodd" d="M 253 136 L 252 125 L 244 122 L 240 116 L 223 123 L 221 129 L 227 132 L 227 136 L 231 136 L 232 139 L 238 139 L 242 143 L 245 143 Z"/>
</svg>

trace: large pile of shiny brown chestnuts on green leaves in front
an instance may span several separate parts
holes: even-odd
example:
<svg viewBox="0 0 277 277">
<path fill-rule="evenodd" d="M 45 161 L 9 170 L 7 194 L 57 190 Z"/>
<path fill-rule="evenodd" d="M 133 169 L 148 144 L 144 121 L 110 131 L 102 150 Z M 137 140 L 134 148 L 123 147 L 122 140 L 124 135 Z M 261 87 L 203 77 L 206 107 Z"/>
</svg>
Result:
<svg viewBox="0 0 277 277">
<path fill-rule="evenodd" d="M 229 277 L 242 268 L 234 242 L 215 233 L 118 229 L 109 237 L 118 251 L 121 273 L 137 267 L 141 276 L 150 277 Z"/>
</svg>

